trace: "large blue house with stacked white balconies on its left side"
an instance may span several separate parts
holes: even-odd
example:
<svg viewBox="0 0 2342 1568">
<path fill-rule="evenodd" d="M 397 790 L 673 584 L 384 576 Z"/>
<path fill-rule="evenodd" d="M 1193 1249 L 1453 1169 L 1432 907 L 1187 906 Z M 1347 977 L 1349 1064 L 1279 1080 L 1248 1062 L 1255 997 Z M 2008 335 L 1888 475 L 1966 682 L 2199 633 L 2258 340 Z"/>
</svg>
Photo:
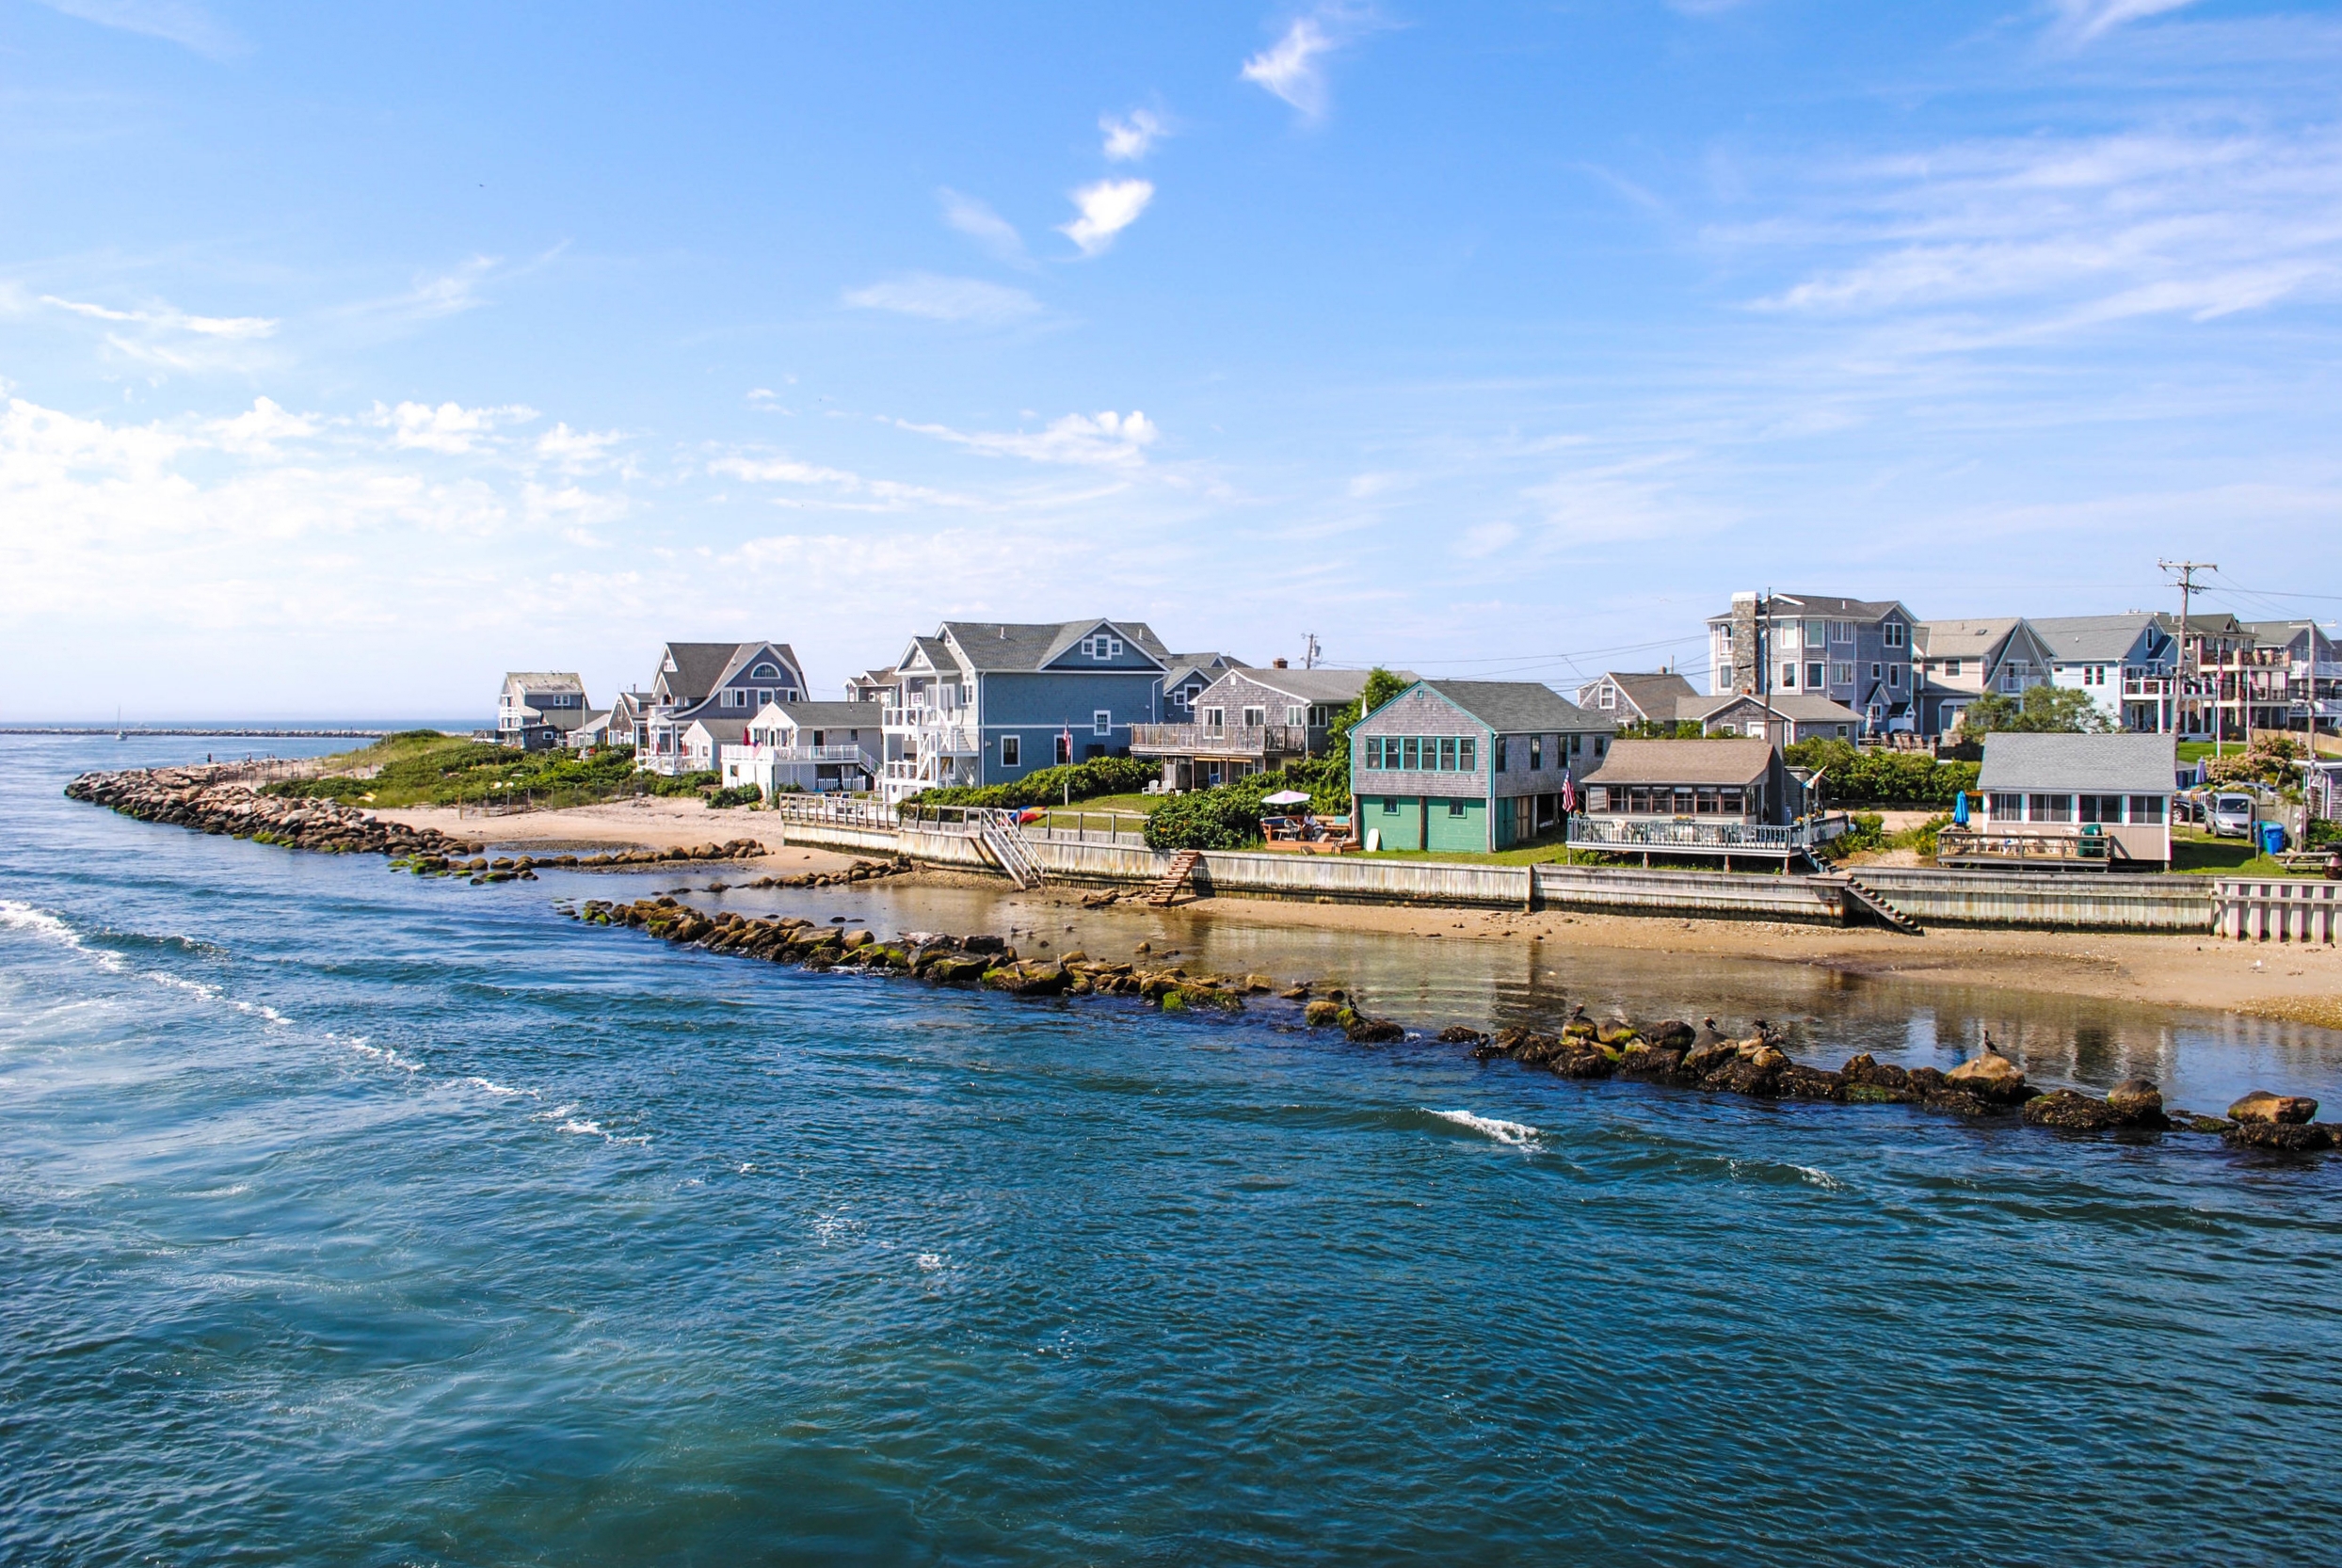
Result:
<svg viewBox="0 0 2342 1568">
<path fill-rule="evenodd" d="M 878 789 L 902 800 L 1129 756 L 1131 725 L 1162 721 L 1171 662 L 1138 620 L 946 620 L 895 660 Z"/>
</svg>

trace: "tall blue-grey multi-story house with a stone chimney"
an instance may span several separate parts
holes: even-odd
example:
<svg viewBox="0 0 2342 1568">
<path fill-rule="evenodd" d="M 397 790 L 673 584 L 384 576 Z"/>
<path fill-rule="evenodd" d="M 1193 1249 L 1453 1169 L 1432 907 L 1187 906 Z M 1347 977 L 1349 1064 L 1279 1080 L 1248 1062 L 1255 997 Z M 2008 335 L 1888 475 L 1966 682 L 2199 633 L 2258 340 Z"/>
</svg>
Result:
<svg viewBox="0 0 2342 1568">
<path fill-rule="evenodd" d="M 1862 714 L 1864 735 L 1916 730 L 1916 625 L 1895 599 L 1733 594 L 1733 608 L 1707 618 L 1707 690 L 1829 697 Z"/>
</svg>

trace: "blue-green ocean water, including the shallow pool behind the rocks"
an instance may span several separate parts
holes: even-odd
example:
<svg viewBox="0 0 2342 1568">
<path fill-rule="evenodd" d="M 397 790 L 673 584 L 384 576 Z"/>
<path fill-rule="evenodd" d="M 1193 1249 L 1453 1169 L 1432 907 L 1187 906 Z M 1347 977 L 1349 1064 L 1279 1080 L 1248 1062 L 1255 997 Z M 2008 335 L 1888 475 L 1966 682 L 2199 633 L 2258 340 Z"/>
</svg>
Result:
<svg viewBox="0 0 2342 1568">
<path fill-rule="evenodd" d="M 2330 1563 L 2342 1161 L 583 929 L 693 887 L 2213 1105 L 2342 1039 L 974 889 L 473 889 L 0 740 L 0 1561 Z M 286 747 L 281 747 L 286 749 Z M 2330 1095 L 2328 1095 L 2330 1098 Z M 2225 1100 L 2223 1100 L 2225 1102 Z"/>
</svg>

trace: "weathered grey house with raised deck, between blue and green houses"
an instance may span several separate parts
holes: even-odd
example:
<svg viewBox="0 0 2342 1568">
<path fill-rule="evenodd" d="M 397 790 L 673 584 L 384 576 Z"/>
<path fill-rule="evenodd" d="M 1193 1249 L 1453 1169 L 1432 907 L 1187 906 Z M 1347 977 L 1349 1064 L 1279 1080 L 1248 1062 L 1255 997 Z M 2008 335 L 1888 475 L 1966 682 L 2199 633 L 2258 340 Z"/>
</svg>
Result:
<svg viewBox="0 0 2342 1568">
<path fill-rule="evenodd" d="M 1176 674 L 1176 672 L 1173 672 Z M 1415 674 L 1393 669 L 1401 681 Z M 1230 669 L 1204 686 L 1178 718 L 1131 728 L 1131 756 L 1162 758 L 1164 789 L 1211 789 L 1319 756 L 1333 718 L 1365 690 L 1365 669 Z"/>
</svg>

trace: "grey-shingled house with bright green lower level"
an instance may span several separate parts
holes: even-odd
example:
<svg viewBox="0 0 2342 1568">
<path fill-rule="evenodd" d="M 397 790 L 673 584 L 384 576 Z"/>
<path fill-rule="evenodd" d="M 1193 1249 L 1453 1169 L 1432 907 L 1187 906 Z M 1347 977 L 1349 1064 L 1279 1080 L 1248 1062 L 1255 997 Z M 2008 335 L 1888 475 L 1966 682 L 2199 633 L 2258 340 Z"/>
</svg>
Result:
<svg viewBox="0 0 2342 1568">
<path fill-rule="evenodd" d="M 1349 733 L 1356 831 L 1382 850 L 1527 843 L 1614 728 L 1536 681 L 1415 681 Z"/>
</svg>

